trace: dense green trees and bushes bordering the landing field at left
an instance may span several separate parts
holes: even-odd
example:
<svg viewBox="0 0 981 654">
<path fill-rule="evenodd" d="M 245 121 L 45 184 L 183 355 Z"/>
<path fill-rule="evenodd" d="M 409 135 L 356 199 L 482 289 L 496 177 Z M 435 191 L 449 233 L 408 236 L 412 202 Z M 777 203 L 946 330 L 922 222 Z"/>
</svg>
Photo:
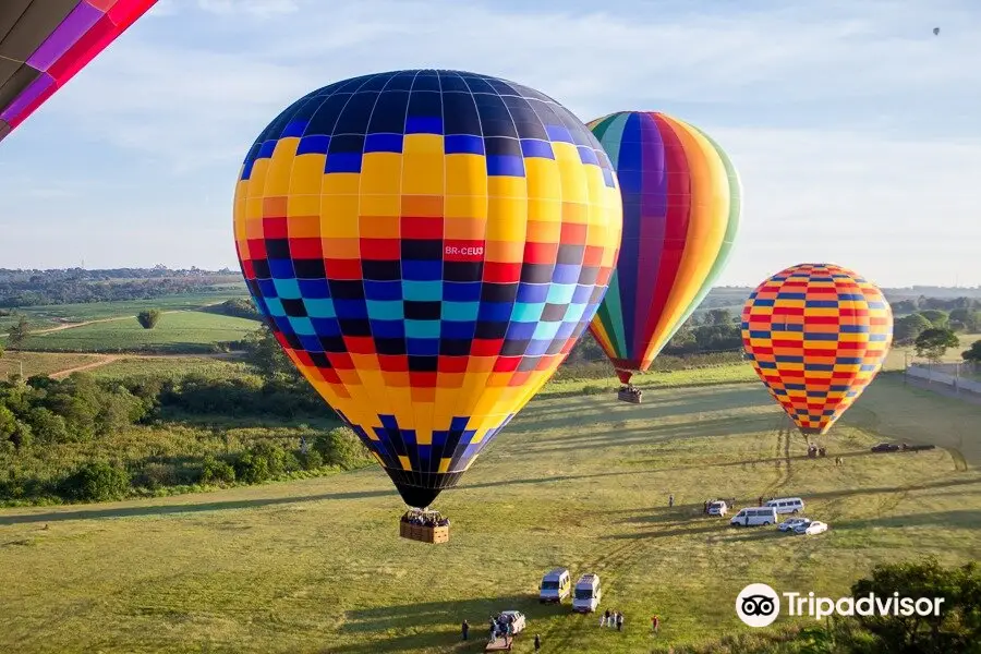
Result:
<svg viewBox="0 0 981 654">
<path fill-rule="evenodd" d="M 181 457 L 130 458 L 116 439 L 128 433 L 175 429 L 187 420 L 255 416 L 310 420 L 310 443 L 258 435 L 229 450 L 220 433 L 205 432 Z M 272 375 L 211 378 L 186 375 L 98 380 L 76 373 L 64 380 L 35 376 L 0 383 L 0 501 L 97 501 L 195 484 L 261 483 L 284 474 L 316 474 L 370 461 L 358 437 L 331 420 L 305 382 Z M 208 446 L 208 439 L 213 443 Z M 223 447 L 222 447 L 223 445 Z M 177 447 L 177 444 L 173 444 Z M 68 453 L 65 453 L 68 452 Z M 93 452 L 76 461 L 80 452 Z M 68 458 L 65 458 L 68 457 Z M 69 463 L 66 463 L 66 461 Z"/>
</svg>

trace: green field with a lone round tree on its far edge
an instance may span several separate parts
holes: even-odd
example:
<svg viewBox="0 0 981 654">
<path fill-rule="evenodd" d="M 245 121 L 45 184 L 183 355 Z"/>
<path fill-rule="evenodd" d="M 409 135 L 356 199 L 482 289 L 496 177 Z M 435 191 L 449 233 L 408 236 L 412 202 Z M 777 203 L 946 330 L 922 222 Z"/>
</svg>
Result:
<svg viewBox="0 0 981 654">
<path fill-rule="evenodd" d="M 154 329 L 144 329 L 133 316 L 35 335 L 24 347 L 62 352 L 202 352 L 219 341 L 240 340 L 258 326 L 245 318 L 186 311 L 164 314 Z"/>
</svg>

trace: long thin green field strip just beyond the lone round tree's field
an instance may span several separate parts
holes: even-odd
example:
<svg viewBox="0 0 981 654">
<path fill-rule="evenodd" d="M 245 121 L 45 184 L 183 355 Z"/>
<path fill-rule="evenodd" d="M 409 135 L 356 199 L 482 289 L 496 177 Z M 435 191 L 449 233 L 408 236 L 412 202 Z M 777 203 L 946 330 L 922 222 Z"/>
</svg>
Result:
<svg viewBox="0 0 981 654">
<path fill-rule="evenodd" d="M 28 306 L 17 308 L 19 313 L 27 316 L 32 327 L 46 329 L 55 327 L 62 322 L 81 323 L 84 320 L 99 320 L 118 316 L 135 316 L 146 308 L 159 308 L 161 311 L 190 311 L 201 308 L 208 304 L 218 304 L 233 298 L 247 298 L 244 287 L 228 286 L 209 293 L 181 293 L 177 295 L 164 295 L 152 300 L 133 300 L 126 302 L 88 302 L 83 304 L 50 304 L 43 306 Z M 0 318 L 0 328 L 8 328 L 15 322 L 11 316 Z"/>
</svg>

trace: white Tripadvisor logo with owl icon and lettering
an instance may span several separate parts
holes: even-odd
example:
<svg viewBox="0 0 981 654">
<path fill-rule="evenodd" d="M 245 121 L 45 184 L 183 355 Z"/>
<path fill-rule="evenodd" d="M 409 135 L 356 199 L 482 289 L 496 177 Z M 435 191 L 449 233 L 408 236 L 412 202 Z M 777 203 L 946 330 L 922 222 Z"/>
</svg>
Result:
<svg viewBox="0 0 981 654">
<path fill-rule="evenodd" d="M 938 616 L 944 597 L 905 597 L 893 593 L 881 597 L 869 593 L 862 597 L 818 597 L 813 592 L 777 593 L 765 583 L 751 583 L 736 596 L 736 615 L 750 627 L 766 627 L 780 615 L 780 596 L 786 600 L 786 614 L 810 616 L 823 620 L 827 616 Z"/>
</svg>

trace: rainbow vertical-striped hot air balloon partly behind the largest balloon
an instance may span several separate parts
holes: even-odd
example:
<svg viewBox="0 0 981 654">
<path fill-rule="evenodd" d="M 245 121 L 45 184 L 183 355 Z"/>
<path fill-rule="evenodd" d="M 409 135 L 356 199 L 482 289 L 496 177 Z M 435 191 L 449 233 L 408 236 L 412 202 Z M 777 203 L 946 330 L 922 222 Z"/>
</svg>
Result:
<svg viewBox="0 0 981 654">
<path fill-rule="evenodd" d="M 589 123 L 609 155 L 623 197 L 616 271 L 590 330 L 610 359 L 621 399 L 718 278 L 739 226 L 739 177 L 706 134 L 653 111 Z M 626 397 L 625 397 L 626 393 Z"/>
</svg>

